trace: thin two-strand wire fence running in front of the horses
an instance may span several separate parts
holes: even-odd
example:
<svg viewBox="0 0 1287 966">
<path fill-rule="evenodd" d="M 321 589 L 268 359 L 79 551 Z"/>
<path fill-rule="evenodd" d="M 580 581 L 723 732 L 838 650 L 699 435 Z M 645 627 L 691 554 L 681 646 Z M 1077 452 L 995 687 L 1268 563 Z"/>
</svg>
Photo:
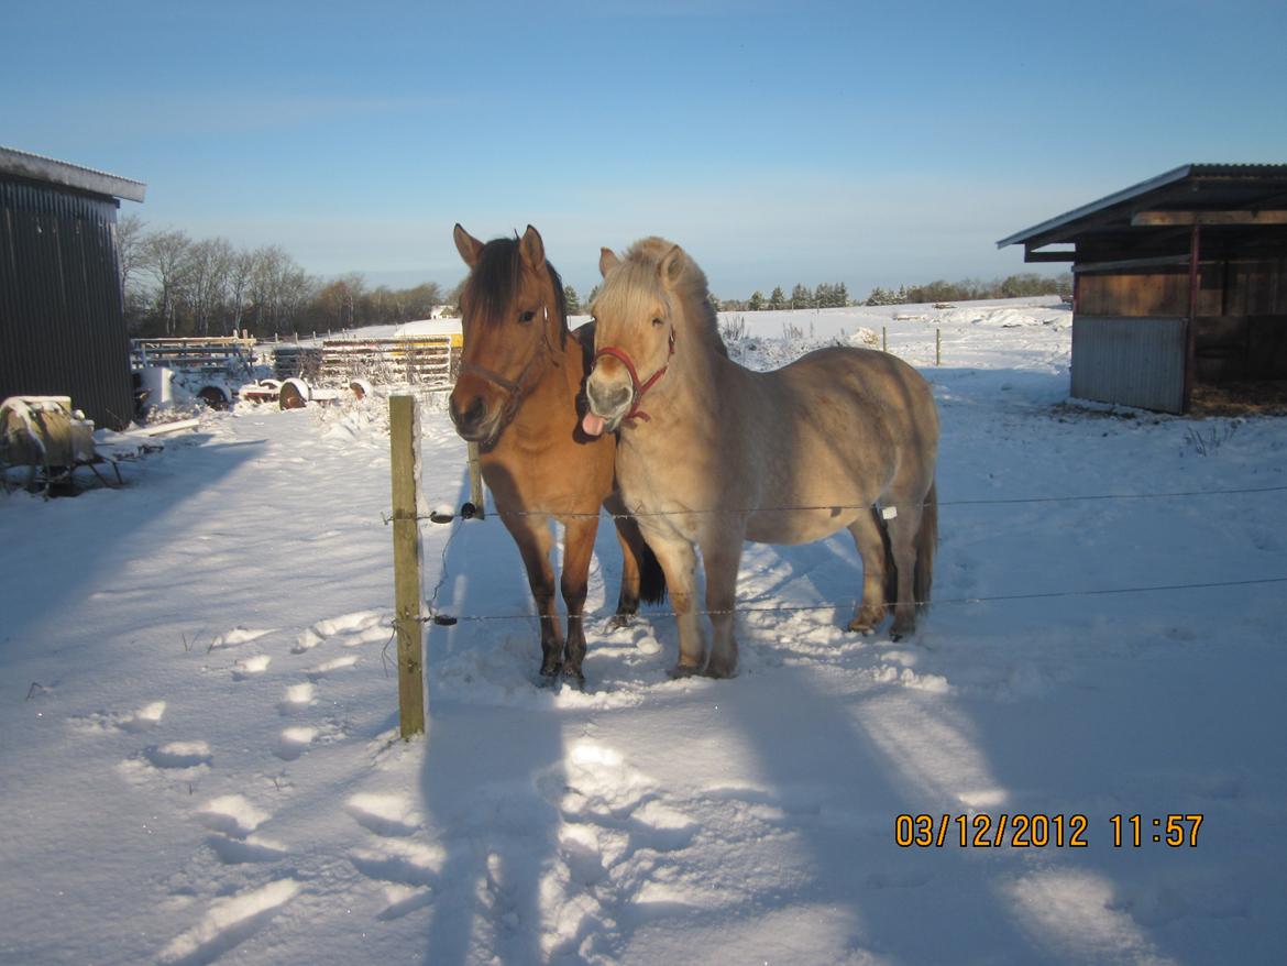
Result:
<svg viewBox="0 0 1287 966">
<path fill-rule="evenodd" d="M 1001 506 L 1001 505 L 1024 505 L 1024 504 L 1075 504 L 1075 502 L 1088 502 L 1088 501 L 1151 501 L 1151 500 L 1198 500 L 1207 497 L 1227 497 L 1227 496 L 1248 496 L 1248 495 L 1261 495 L 1261 493 L 1283 493 L 1287 492 L 1287 486 L 1274 486 L 1274 487 L 1238 487 L 1238 488 L 1225 488 L 1225 489 L 1188 489 L 1188 491 L 1170 491 L 1161 493 L 1086 493 L 1086 495 L 1069 495 L 1069 496 L 1042 496 L 1042 497 L 983 497 L 983 498 L 969 498 L 969 500 L 945 500 L 940 501 L 938 506 Z M 822 505 L 798 505 L 798 506 L 772 506 L 772 507 L 754 507 L 754 509 L 730 509 L 730 507 L 716 507 L 707 510 L 655 510 L 655 511 L 641 511 L 641 513 L 607 513 L 610 519 L 631 519 L 634 516 L 664 516 L 664 515 L 690 515 L 690 514 L 749 514 L 749 513 L 792 513 L 792 511 L 807 511 L 807 510 L 864 510 L 871 509 L 869 505 L 853 505 L 853 504 L 822 504 Z M 589 513 L 551 513 L 543 510 L 514 510 L 505 511 L 495 507 L 486 510 L 489 515 L 497 516 L 544 516 L 555 519 L 574 519 L 574 518 L 587 518 L 587 516 L 600 516 L 601 514 Z M 448 535 L 447 541 L 443 545 L 441 551 L 441 564 L 439 568 L 438 583 L 434 587 L 432 594 L 426 601 L 426 616 L 417 618 L 422 623 L 434 623 L 439 626 L 453 626 L 459 622 L 466 623 L 485 623 L 485 622 L 498 622 L 498 621 L 533 621 L 543 620 L 539 614 L 528 613 L 512 613 L 512 614 L 459 614 L 453 616 L 444 613 L 438 607 L 439 595 L 447 582 L 447 558 L 450 549 L 452 541 L 459 532 L 461 526 L 468 520 L 477 516 L 477 509 L 472 504 L 465 504 L 459 513 L 443 514 L 434 513 L 429 516 L 417 516 L 417 520 L 431 520 L 439 524 L 450 524 L 452 532 Z M 393 518 L 385 516 L 385 523 L 390 523 Z M 1166 591 L 1189 591 L 1189 590 L 1212 590 L 1212 589 L 1232 589 L 1232 587 L 1251 587 L 1251 586 L 1265 586 L 1275 583 L 1287 583 L 1287 576 L 1275 577 L 1254 577 L 1246 580 L 1233 580 L 1233 581 L 1206 581 L 1196 583 L 1165 583 L 1165 585 L 1142 585 L 1142 586 L 1129 586 L 1129 587 L 1089 587 L 1082 590 L 1057 590 L 1057 591 L 1035 591 L 1035 592 L 1022 592 L 1022 594 L 990 594 L 990 595 L 970 595 L 960 598 L 936 598 L 933 600 L 918 600 L 914 601 L 916 605 L 933 604 L 936 607 L 942 605 L 977 605 L 988 603 L 1004 603 L 1015 600 L 1054 600 L 1060 598 L 1094 598 L 1094 596 L 1115 596 L 1115 595 L 1129 595 L 1129 594 L 1156 594 Z M 808 613 L 808 612 L 822 612 L 822 611 L 844 611 L 844 609 L 857 609 L 858 600 L 843 600 L 835 603 L 822 603 L 822 604 L 784 604 L 772 601 L 768 599 L 750 600 L 745 604 L 740 604 L 734 608 L 722 611 L 710 609 L 691 609 L 683 612 L 685 614 L 701 616 L 701 617 L 721 617 L 728 614 L 768 614 L 768 613 Z M 680 617 L 680 612 L 669 609 L 649 609 L 646 611 L 649 617 Z M 575 617 L 569 617 L 569 620 L 578 620 Z"/>
</svg>

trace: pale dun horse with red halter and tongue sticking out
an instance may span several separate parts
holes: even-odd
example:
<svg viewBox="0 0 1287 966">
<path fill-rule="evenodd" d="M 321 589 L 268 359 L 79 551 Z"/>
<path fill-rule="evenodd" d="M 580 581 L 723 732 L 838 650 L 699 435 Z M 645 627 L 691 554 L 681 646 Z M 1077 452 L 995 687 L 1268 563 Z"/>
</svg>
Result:
<svg viewBox="0 0 1287 966">
<path fill-rule="evenodd" d="M 924 379 L 867 349 L 812 352 L 775 372 L 728 358 L 707 279 L 660 238 L 604 249 L 595 299 L 591 435 L 620 430 L 622 495 L 665 571 L 678 616 L 676 675 L 737 666 L 732 608 L 744 540 L 804 544 L 847 527 L 862 556 L 849 630 L 893 604 L 893 635 L 929 599 L 938 413 Z M 696 550 L 713 626 L 694 609 Z"/>
</svg>

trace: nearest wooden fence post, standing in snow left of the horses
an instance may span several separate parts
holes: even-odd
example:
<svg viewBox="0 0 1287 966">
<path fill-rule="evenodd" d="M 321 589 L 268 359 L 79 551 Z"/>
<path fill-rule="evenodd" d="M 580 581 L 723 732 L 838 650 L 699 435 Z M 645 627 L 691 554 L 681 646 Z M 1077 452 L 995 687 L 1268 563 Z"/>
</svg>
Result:
<svg viewBox="0 0 1287 966">
<path fill-rule="evenodd" d="M 403 739 L 425 732 L 425 625 L 421 620 L 420 480 L 416 398 L 389 397 L 389 446 L 394 497 L 394 629 L 398 635 L 398 712 Z"/>
</svg>

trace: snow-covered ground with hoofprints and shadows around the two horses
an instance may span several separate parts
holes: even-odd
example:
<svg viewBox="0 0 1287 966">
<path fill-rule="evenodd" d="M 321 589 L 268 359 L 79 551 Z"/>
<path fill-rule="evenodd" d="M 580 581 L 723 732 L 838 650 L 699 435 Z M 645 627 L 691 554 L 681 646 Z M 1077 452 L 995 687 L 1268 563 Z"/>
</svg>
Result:
<svg viewBox="0 0 1287 966">
<path fill-rule="evenodd" d="M 1057 300 L 741 319 L 748 365 L 885 326 L 934 383 L 916 638 L 843 631 L 847 535 L 750 546 L 740 675 L 671 681 L 664 607 L 604 627 L 605 526 L 587 693 L 533 685 L 530 617 L 434 627 L 403 744 L 382 403 L 211 413 L 124 489 L 0 498 L 0 962 L 1282 962 L 1287 585 L 1248 581 L 1287 501 L 1192 495 L 1287 487 L 1287 420 L 1064 406 Z M 1149 493 L 1189 496 L 1063 498 Z M 423 545 L 441 609 L 530 613 L 495 518 Z M 1003 814 L 1051 842 L 960 846 Z"/>
</svg>

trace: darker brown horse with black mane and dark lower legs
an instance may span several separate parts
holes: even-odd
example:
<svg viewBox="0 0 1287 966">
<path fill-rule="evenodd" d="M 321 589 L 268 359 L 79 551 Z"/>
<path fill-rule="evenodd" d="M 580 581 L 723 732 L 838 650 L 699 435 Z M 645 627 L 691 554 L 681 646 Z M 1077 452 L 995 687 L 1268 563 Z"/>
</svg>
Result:
<svg viewBox="0 0 1287 966">
<path fill-rule="evenodd" d="M 480 444 L 483 479 L 519 545 L 541 614 L 541 674 L 560 671 L 583 684 L 586 632 L 582 612 L 598 509 L 615 515 L 624 565 L 616 621 L 638 601 L 656 601 L 665 583 L 656 558 L 615 498 L 616 440 L 588 437 L 579 426 L 591 344 L 568 328 L 562 281 L 546 261 L 544 243 L 528 225 L 523 240 L 486 245 L 461 225 L 456 247 L 470 267 L 461 292 L 465 344 L 452 392 L 456 431 Z M 550 560 L 551 522 L 564 524 L 560 587 L 568 607 L 564 644 Z"/>
</svg>

